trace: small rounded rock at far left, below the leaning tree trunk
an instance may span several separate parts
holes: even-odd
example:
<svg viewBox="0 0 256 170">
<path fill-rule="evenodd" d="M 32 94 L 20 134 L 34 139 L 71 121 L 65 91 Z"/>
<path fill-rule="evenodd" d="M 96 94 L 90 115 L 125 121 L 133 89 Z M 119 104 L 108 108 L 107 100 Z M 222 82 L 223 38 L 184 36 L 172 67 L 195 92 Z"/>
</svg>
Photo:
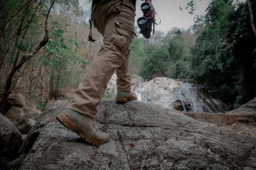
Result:
<svg viewBox="0 0 256 170">
<path fill-rule="evenodd" d="M 12 106 L 16 108 L 24 108 L 26 106 L 25 97 L 22 96 L 22 94 L 10 94 L 7 97 L 6 103 L 4 104 L 4 111 L 7 113 Z"/>
</svg>

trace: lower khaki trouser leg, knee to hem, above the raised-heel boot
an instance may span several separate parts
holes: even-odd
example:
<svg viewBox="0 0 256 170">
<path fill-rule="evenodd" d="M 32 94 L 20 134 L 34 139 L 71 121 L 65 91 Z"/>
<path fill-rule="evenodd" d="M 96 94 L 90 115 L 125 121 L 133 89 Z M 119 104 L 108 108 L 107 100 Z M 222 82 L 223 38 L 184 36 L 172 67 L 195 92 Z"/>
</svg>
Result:
<svg viewBox="0 0 256 170">
<path fill-rule="evenodd" d="M 84 115 L 94 117 L 96 107 L 108 85 L 108 81 L 115 72 L 116 67 L 122 65 L 123 57 L 118 47 L 111 41 L 105 41 L 102 49 L 93 59 L 86 75 L 77 87 L 74 101 L 68 108 Z"/>
</svg>

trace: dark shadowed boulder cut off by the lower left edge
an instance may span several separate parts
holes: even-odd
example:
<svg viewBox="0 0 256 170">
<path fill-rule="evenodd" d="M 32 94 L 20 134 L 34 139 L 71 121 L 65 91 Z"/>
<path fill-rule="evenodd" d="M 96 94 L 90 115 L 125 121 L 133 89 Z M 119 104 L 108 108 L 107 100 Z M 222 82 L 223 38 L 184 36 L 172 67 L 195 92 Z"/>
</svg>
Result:
<svg viewBox="0 0 256 170">
<path fill-rule="evenodd" d="M 22 145 L 21 134 L 12 122 L 1 113 L 0 129 L 0 157 L 17 158 L 18 150 Z"/>
</svg>

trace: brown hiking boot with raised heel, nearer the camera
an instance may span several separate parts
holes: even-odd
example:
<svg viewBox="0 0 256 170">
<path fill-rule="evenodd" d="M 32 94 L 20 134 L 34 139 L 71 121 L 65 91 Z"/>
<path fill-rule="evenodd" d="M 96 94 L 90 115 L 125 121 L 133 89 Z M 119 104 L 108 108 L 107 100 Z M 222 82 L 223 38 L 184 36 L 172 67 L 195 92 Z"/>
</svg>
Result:
<svg viewBox="0 0 256 170">
<path fill-rule="evenodd" d="M 98 132 L 94 127 L 94 119 L 92 117 L 66 109 L 56 118 L 61 124 L 76 132 L 85 141 L 92 143 L 92 145 L 102 145 L 109 141 L 109 134 Z"/>
</svg>

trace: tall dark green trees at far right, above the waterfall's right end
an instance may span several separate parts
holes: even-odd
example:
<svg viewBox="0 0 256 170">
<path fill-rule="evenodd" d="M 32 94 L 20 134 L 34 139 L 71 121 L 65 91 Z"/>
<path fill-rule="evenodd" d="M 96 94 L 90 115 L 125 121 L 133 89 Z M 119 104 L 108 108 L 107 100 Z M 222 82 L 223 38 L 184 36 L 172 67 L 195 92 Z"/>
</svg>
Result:
<svg viewBox="0 0 256 170">
<path fill-rule="evenodd" d="M 191 50 L 191 80 L 235 107 L 246 103 L 256 96 L 255 44 L 247 4 L 212 1 Z"/>
</svg>

